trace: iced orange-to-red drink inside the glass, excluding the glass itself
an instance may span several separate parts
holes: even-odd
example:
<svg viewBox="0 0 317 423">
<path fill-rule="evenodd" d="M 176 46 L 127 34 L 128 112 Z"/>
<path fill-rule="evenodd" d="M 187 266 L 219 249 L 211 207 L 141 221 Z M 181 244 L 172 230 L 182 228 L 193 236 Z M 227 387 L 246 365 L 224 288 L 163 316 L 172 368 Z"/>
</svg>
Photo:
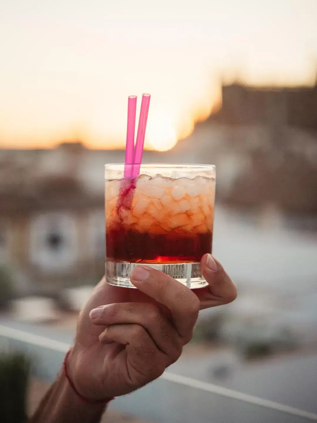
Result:
<svg viewBox="0 0 317 423">
<path fill-rule="evenodd" d="M 106 183 L 106 254 L 113 261 L 186 263 L 211 252 L 214 179 Z"/>
</svg>

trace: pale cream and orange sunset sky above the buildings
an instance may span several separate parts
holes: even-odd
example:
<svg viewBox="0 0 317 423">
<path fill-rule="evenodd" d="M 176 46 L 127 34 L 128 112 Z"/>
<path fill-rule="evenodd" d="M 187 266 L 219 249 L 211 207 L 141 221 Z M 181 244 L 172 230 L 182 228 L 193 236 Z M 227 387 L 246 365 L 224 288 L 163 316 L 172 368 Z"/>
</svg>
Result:
<svg viewBox="0 0 317 423">
<path fill-rule="evenodd" d="M 317 0 L 7 0 L 0 146 L 123 147 L 128 95 L 151 94 L 146 145 L 170 148 L 221 79 L 312 84 Z"/>
</svg>

